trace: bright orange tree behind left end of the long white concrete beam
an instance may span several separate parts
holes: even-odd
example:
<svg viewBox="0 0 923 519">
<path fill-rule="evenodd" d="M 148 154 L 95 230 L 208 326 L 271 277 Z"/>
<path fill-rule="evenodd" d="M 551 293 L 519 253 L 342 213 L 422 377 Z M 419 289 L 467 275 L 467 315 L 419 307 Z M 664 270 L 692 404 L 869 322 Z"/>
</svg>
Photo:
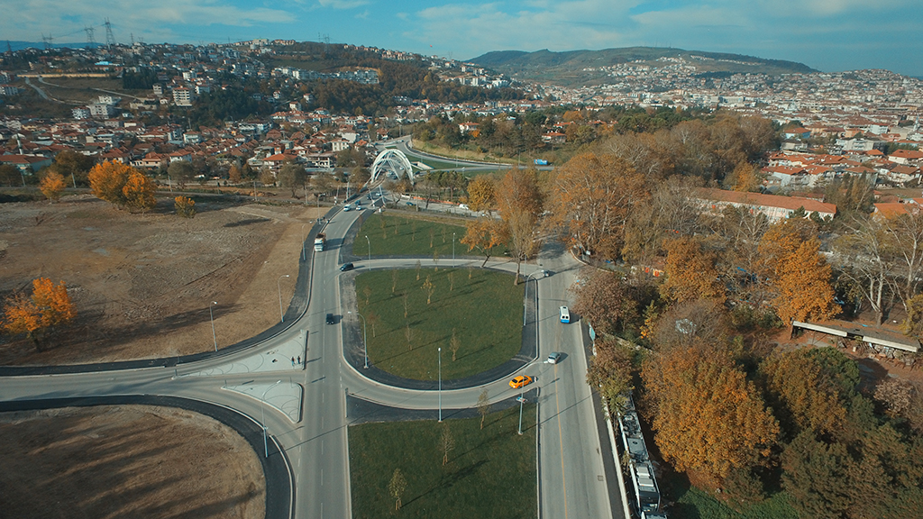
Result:
<svg viewBox="0 0 923 519">
<path fill-rule="evenodd" d="M 821 256 L 813 223 L 789 219 L 774 224 L 760 242 L 762 273 L 769 278 L 779 318 L 827 320 L 839 306 L 830 284 L 831 268 Z"/>
</svg>

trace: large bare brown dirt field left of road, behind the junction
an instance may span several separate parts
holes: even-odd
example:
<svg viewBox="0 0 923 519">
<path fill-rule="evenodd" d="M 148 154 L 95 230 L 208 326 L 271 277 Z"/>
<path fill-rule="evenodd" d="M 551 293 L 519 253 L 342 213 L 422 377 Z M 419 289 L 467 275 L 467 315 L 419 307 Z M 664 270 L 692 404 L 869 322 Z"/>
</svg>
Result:
<svg viewBox="0 0 923 519">
<path fill-rule="evenodd" d="M 234 344 L 279 320 L 304 233 L 324 208 L 197 199 L 177 217 L 172 199 L 129 214 L 90 195 L 0 205 L 0 296 L 39 276 L 66 282 L 78 319 L 37 351 L 0 336 L 0 364 L 76 364 L 175 356 Z M 319 211 L 319 212 L 318 212 Z"/>
</svg>

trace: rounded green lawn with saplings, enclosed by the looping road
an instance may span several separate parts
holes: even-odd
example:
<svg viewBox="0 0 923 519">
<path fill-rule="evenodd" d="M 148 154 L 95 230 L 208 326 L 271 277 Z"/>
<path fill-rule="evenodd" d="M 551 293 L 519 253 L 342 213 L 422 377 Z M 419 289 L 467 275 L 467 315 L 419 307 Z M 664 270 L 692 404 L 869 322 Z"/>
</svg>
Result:
<svg viewBox="0 0 923 519">
<path fill-rule="evenodd" d="M 394 292 L 392 272 L 397 276 Z M 423 288 L 427 277 L 435 287 L 428 305 Z M 437 380 L 438 347 L 442 380 L 462 379 L 506 362 L 522 343 L 523 285 L 512 282 L 509 274 L 480 269 L 422 268 L 419 280 L 414 269 L 359 274 L 356 299 L 368 323 L 369 362 L 414 380 Z M 454 362 L 453 330 L 460 344 Z"/>
</svg>

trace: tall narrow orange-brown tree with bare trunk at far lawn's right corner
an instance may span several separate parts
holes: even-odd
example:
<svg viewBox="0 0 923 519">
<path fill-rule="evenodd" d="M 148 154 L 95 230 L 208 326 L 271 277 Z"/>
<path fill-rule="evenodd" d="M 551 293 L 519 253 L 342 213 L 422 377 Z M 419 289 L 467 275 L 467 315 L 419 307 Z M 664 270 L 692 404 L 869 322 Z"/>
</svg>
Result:
<svg viewBox="0 0 923 519">
<path fill-rule="evenodd" d="M 535 225 L 542 212 L 542 194 L 534 169 L 513 169 L 503 175 L 497 185 L 497 208 L 507 224 L 509 254 L 516 259 L 513 284 L 519 284 L 522 261 L 535 250 Z"/>
</svg>

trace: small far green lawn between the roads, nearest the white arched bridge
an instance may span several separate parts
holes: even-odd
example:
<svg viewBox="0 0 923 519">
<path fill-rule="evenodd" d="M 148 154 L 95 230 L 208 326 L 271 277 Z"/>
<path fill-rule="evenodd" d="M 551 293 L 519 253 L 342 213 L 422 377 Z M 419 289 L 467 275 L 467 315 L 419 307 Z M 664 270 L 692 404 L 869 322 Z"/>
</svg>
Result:
<svg viewBox="0 0 923 519">
<path fill-rule="evenodd" d="M 384 214 L 377 212 L 369 216 L 359 229 L 353 244 L 353 254 L 366 256 L 369 244 L 372 256 L 432 258 L 436 251 L 440 259 L 446 259 L 448 266 L 452 259 L 452 233 L 455 233 L 456 256 L 469 254 L 468 247 L 461 241 L 465 234 L 463 225 L 398 215 L 394 211 L 386 211 Z"/>
</svg>

